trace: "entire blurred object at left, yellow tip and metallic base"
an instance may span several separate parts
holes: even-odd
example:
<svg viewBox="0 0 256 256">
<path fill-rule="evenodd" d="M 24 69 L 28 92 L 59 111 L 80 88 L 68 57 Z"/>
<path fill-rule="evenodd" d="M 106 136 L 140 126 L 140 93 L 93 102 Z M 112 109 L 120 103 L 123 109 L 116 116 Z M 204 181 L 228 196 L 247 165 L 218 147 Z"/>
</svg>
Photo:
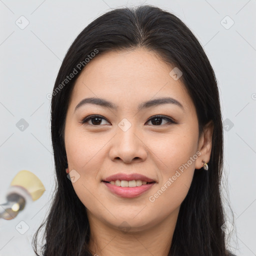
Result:
<svg viewBox="0 0 256 256">
<path fill-rule="evenodd" d="M 41 180 L 35 174 L 28 170 L 19 171 L 6 193 L 7 202 L 0 204 L 0 218 L 13 219 L 25 207 L 27 200 L 37 200 L 44 191 Z"/>
</svg>

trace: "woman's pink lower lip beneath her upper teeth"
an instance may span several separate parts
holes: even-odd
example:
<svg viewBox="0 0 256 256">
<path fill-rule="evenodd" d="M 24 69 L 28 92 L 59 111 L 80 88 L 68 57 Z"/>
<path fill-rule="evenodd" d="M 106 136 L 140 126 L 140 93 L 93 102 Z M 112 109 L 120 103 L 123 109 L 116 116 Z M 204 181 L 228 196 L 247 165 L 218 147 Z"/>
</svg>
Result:
<svg viewBox="0 0 256 256">
<path fill-rule="evenodd" d="M 141 185 L 141 186 L 134 186 L 134 187 L 116 186 L 116 185 L 113 185 L 111 183 L 107 183 L 107 182 L 104 182 L 104 181 L 103 181 L 103 183 L 110 189 L 110 191 L 112 193 L 115 193 L 115 194 L 117 194 L 121 197 L 132 198 L 132 197 L 136 197 L 136 196 L 144 193 L 148 189 L 150 189 L 150 187 L 155 182 L 148 183 L 148 184 Z"/>
</svg>

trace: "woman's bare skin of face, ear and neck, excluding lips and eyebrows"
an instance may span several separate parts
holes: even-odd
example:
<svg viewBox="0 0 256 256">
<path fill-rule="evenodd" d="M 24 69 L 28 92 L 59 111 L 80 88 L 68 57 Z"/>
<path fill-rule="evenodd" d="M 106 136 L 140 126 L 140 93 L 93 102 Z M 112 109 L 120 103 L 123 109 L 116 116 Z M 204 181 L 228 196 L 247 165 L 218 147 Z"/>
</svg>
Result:
<svg viewBox="0 0 256 256">
<path fill-rule="evenodd" d="M 80 175 L 72 185 L 87 210 L 92 255 L 167 255 L 194 169 L 202 167 L 202 160 L 209 161 L 213 126 L 208 123 L 199 137 L 194 104 L 181 79 L 169 75 L 172 68 L 145 49 L 112 51 L 90 60 L 75 82 L 64 141 L 68 169 Z M 164 96 L 178 100 L 183 109 L 161 104 L 137 111 L 142 101 Z M 102 97 L 119 108 L 85 104 L 74 111 L 85 97 Z M 91 114 L 105 119 L 98 124 L 95 119 L 80 123 Z M 156 114 L 177 124 L 160 119 L 157 125 L 149 120 Z M 118 126 L 123 118 L 131 124 L 126 131 Z M 149 196 L 194 155 L 197 158 L 189 167 L 150 201 Z M 140 173 L 156 183 L 137 197 L 123 198 L 101 182 L 119 172 Z M 126 231 L 119 227 L 123 221 Z"/>
</svg>

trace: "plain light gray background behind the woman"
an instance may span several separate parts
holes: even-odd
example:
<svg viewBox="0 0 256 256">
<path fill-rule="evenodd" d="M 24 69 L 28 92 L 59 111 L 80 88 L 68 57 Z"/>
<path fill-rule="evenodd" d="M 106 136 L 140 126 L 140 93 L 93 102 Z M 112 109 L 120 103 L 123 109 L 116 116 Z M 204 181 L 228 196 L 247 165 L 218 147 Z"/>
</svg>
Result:
<svg viewBox="0 0 256 256">
<path fill-rule="evenodd" d="M 224 124 L 229 125 L 224 130 L 224 187 L 236 226 L 230 249 L 237 255 L 256 255 L 255 0 L 0 0 L 0 202 L 22 169 L 35 173 L 46 188 L 16 218 L 0 219 L 1 256 L 34 255 L 32 235 L 50 205 L 55 181 L 46 95 L 64 54 L 103 12 L 141 3 L 177 15 L 204 46 L 218 80 Z M 24 29 L 15 23 L 25 24 L 22 15 L 29 21 Z M 21 118 L 29 124 L 23 131 L 16 126 Z M 15 229 L 20 221 L 29 226 L 23 235 Z"/>
</svg>

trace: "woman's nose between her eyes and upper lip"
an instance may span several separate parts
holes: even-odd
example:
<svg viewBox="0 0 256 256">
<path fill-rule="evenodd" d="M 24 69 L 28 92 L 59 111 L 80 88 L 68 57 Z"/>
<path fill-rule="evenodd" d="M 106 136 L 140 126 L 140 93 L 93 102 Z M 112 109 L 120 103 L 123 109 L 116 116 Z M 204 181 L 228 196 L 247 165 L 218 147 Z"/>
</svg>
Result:
<svg viewBox="0 0 256 256">
<path fill-rule="evenodd" d="M 117 127 L 116 133 L 111 139 L 109 150 L 112 161 L 122 160 L 124 163 L 145 161 L 148 150 L 135 125 L 131 125 L 126 131 Z"/>
</svg>

